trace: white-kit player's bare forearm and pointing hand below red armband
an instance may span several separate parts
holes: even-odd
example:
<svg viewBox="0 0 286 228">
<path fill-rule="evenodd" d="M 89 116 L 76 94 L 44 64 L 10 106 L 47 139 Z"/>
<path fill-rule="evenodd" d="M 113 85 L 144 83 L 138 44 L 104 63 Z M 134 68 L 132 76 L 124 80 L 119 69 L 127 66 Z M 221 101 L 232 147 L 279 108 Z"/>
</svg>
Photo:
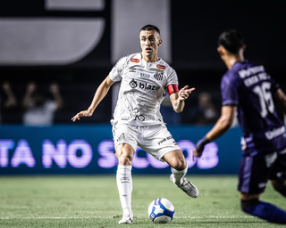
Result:
<svg viewBox="0 0 286 228">
<path fill-rule="evenodd" d="M 185 100 L 188 99 L 189 94 L 194 91 L 195 88 L 190 88 L 189 85 L 181 88 L 179 92 L 172 93 L 170 95 L 170 101 L 172 102 L 172 108 L 175 112 L 181 112 L 185 107 Z"/>
</svg>

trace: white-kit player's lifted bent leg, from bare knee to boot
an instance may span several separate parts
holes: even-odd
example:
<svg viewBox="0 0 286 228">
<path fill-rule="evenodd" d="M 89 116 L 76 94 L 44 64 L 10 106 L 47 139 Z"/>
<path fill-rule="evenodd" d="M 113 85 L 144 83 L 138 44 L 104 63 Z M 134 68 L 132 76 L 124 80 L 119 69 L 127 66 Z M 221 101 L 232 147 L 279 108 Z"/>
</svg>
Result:
<svg viewBox="0 0 286 228">
<path fill-rule="evenodd" d="M 185 191 L 190 197 L 197 198 L 197 187 L 184 177 L 188 172 L 188 166 L 181 150 L 167 152 L 164 154 L 163 159 L 172 167 L 172 175 L 170 176 L 172 183 Z"/>
</svg>

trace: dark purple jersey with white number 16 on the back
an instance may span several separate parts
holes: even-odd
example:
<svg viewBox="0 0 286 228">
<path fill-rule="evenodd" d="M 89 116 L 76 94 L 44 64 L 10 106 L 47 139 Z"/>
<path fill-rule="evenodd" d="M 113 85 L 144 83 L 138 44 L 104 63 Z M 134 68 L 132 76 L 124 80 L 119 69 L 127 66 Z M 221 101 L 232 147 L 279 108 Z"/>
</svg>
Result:
<svg viewBox="0 0 286 228">
<path fill-rule="evenodd" d="M 243 154 L 281 150 L 286 146 L 285 126 L 273 97 L 279 85 L 262 65 L 236 62 L 221 82 L 223 105 L 236 105 L 243 132 Z"/>
</svg>

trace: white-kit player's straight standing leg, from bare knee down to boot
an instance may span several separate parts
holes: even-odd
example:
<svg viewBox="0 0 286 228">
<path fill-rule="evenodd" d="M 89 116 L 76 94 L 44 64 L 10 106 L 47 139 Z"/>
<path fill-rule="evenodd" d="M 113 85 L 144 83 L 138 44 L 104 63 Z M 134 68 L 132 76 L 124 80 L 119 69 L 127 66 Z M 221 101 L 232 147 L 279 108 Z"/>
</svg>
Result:
<svg viewBox="0 0 286 228">
<path fill-rule="evenodd" d="M 133 220 L 131 210 L 131 192 L 133 187 L 131 169 L 134 152 L 134 149 L 128 143 L 121 143 L 116 147 L 116 156 L 118 158 L 116 183 L 123 210 L 122 220 L 119 224 L 131 224 Z"/>
</svg>

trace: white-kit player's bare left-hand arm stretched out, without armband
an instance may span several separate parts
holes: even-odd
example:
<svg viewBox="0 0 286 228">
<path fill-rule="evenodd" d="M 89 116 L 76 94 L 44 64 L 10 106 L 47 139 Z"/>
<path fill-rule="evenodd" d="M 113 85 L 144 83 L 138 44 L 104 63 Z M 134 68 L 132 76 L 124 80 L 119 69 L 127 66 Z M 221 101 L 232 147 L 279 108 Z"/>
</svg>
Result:
<svg viewBox="0 0 286 228">
<path fill-rule="evenodd" d="M 105 77 L 105 80 L 98 86 L 97 92 L 93 97 L 88 110 L 80 111 L 73 118 L 71 118 L 71 120 L 75 122 L 76 120 L 80 120 L 82 117 L 91 117 L 93 112 L 96 110 L 97 105 L 105 98 L 105 95 L 109 91 L 111 85 L 114 85 L 114 82 L 109 76 Z"/>
</svg>

